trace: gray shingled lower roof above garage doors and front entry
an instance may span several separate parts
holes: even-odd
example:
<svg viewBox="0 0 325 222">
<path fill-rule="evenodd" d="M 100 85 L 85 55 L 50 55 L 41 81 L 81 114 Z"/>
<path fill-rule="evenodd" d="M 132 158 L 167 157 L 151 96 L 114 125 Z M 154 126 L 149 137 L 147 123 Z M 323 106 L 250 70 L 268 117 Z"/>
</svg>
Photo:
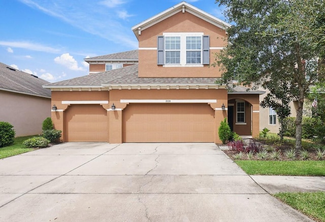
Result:
<svg viewBox="0 0 325 222">
<path fill-rule="evenodd" d="M 108 88 L 108 89 L 225 89 L 215 84 L 216 78 L 139 78 L 138 64 L 74 78 L 43 87 L 54 88 Z M 263 94 L 236 87 L 240 94 Z"/>
</svg>

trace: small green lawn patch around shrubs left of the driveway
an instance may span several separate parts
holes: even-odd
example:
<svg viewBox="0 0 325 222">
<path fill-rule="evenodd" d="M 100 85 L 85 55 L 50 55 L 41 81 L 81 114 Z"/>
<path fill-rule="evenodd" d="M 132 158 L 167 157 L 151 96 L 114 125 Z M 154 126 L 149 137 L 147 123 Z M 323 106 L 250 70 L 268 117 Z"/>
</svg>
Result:
<svg viewBox="0 0 325 222">
<path fill-rule="evenodd" d="M 37 136 L 37 135 L 35 135 Z M 26 139 L 35 137 L 35 136 L 22 136 L 22 137 L 16 137 L 14 139 L 14 144 L 1 147 L 0 148 L 0 159 L 6 158 L 6 157 L 11 157 L 15 156 L 18 154 L 23 154 L 29 151 L 34 151 L 35 149 L 32 148 L 26 148 L 22 142 Z"/>
</svg>

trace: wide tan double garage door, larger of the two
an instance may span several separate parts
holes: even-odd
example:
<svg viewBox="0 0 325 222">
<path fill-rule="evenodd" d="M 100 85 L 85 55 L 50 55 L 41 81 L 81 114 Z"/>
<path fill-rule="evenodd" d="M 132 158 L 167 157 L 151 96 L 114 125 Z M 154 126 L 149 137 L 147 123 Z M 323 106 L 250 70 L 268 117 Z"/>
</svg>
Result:
<svg viewBox="0 0 325 222">
<path fill-rule="evenodd" d="M 213 142 L 214 110 L 208 104 L 129 104 L 123 141 Z"/>
</svg>

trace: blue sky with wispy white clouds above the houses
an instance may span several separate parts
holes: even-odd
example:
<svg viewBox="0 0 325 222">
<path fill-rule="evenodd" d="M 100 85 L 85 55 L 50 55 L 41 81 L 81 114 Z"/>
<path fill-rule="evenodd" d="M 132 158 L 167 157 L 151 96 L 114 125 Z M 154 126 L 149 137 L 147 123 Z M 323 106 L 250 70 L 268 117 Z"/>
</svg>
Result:
<svg viewBox="0 0 325 222">
<path fill-rule="evenodd" d="M 177 0 L 0 0 L 0 62 L 58 82 L 88 75 L 84 58 L 134 50 L 131 27 Z M 221 20 L 215 0 L 187 0 Z"/>
</svg>

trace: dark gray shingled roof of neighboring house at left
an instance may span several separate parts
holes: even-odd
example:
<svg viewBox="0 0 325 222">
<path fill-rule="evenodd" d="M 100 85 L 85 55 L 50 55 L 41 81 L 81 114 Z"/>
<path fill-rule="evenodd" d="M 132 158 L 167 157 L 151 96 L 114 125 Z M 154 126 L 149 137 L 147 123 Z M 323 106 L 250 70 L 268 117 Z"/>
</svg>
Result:
<svg viewBox="0 0 325 222">
<path fill-rule="evenodd" d="M 51 98 L 51 90 L 42 86 L 49 82 L 0 62 L 0 90 Z"/>
</svg>

